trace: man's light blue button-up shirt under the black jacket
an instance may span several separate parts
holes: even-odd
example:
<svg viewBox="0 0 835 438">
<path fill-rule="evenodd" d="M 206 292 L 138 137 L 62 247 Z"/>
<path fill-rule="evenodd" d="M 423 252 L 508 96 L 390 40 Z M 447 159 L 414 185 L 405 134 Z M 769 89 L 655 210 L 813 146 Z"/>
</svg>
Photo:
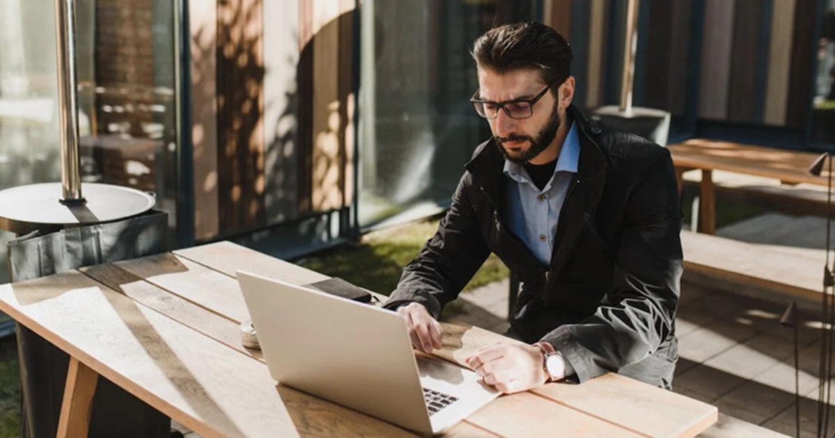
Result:
<svg viewBox="0 0 835 438">
<path fill-rule="evenodd" d="M 579 164 L 577 123 L 571 123 L 554 168 L 554 175 L 542 190 L 534 184 L 524 165 L 504 160 L 509 181 L 505 219 L 540 263 L 551 263 L 559 212 Z"/>
</svg>

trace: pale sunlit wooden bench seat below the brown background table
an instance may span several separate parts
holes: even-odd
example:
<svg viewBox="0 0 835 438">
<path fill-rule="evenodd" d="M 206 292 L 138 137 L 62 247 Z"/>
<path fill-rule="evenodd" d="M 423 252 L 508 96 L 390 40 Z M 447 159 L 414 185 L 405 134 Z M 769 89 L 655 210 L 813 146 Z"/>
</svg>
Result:
<svg viewBox="0 0 835 438">
<path fill-rule="evenodd" d="M 710 234 L 681 232 L 685 272 L 818 302 L 823 259 L 777 245 L 750 244 Z"/>
</svg>

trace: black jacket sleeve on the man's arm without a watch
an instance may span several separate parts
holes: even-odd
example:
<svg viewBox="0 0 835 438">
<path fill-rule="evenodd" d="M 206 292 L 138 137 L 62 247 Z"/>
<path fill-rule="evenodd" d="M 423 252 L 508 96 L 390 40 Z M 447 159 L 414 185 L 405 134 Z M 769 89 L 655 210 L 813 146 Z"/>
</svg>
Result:
<svg viewBox="0 0 835 438">
<path fill-rule="evenodd" d="M 438 319 L 443 306 L 458 297 L 487 259 L 490 251 L 468 194 L 472 184 L 472 175 L 465 172 L 438 231 L 403 269 L 397 289 L 383 307 L 396 309 L 416 301 Z"/>
</svg>

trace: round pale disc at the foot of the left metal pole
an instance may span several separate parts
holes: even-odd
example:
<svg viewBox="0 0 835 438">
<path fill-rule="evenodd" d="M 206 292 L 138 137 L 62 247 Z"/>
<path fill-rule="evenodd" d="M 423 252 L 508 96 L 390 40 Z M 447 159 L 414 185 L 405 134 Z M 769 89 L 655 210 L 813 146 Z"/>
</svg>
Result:
<svg viewBox="0 0 835 438">
<path fill-rule="evenodd" d="M 14 234 L 101 224 L 142 214 L 156 202 L 153 194 L 110 184 L 84 184 L 79 204 L 63 204 L 61 184 L 29 184 L 0 191 L 0 229 Z"/>
</svg>

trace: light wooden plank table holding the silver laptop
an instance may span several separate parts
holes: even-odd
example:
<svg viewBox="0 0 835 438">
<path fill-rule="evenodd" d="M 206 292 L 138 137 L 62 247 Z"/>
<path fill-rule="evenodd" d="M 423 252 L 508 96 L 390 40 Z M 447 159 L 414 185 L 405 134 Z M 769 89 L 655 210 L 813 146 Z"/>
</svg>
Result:
<svg viewBox="0 0 835 438">
<path fill-rule="evenodd" d="M 235 272 L 307 284 L 327 277 L 237 244 L 0 285 L 0 310 L 70 356 L 59 436 L 86 436 L 102 375 L 203 436 L 414 436 L 276 385 L 260 351 L 240 345 L 248 318 Z M 444 325 L 439 355 L 461 363 L 504 336 Z M 372 340 L 368 340 L 372 341 Z M 607 374 L 506 395 L 445 436 L 695 436 L 716 407 Z"/>
</svg>

